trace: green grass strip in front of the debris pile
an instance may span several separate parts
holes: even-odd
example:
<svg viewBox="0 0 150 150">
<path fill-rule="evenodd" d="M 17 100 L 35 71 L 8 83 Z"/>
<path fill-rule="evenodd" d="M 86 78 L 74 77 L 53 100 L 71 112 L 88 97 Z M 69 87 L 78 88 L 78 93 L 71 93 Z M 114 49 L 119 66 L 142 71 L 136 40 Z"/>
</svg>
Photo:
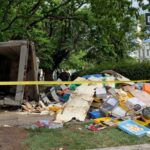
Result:
<svg viewBox="0 0 150 150">
<path fill-rule="evenodd" d="M 29 150 L 84 150 L 91 148 L 150 143 L 150 138 L 134 137 L 118 128 L 107 128 L 99 132 L 85 129 L 84 124 L 66 125 L 61 129 L 28 130 L 25 141 Z"/>
</svg>

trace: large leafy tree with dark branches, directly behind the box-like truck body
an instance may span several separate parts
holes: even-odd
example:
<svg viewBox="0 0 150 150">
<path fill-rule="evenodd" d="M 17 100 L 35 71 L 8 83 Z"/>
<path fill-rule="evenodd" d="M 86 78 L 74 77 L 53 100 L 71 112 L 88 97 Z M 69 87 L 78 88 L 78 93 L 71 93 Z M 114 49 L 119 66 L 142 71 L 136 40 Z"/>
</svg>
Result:
<svg viewBox="0 0 150 150">
<path fill-rule="evenodd" d="M 77 10 L 84 3 L 85 0 L 3 0 L 0 40 L 34 41 L 41 67 L 54 70 L 75 51 L 84 32 L 77 25 L 83 19 Z"/>
</svg>

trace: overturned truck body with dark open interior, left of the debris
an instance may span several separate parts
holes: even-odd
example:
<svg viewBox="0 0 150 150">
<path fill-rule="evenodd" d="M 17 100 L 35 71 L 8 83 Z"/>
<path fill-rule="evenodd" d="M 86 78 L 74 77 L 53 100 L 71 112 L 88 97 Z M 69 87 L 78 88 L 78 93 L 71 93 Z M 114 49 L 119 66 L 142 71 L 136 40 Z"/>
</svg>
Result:
<svg viewBox="0 0 150 150">
<path fill-rule="evenodd" d="M 36 81 L 37 78 L 38 63 L 32 42 L 0 42 L 0 82 Z M 37 85 L 0 86 L 0 106 L 19 106 L 23 100 L 37 98 Z"/>
</svg>

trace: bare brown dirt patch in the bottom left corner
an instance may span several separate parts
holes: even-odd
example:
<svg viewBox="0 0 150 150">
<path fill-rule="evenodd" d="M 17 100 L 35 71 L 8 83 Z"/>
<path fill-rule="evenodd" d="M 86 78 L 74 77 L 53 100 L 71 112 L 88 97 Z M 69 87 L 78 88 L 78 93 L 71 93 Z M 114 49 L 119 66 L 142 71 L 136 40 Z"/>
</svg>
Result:
<svg viewBox="0 0 150 150">
<path fill-rule="evenodd" d="M 26 137 L 22 128 L 0 127 L 0 150 L 27 150 L 22 143 Z"/>
</svg>

